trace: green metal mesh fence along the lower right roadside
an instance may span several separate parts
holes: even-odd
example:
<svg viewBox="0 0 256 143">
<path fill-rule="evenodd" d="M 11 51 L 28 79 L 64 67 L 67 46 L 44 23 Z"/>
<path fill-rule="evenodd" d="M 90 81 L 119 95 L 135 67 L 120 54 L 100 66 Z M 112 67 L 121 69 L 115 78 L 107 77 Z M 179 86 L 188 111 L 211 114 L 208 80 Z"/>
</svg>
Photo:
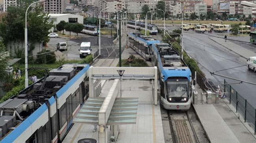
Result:
<svg viewBox="0 0 256 143">
<path fill-rule="evenodd" d="M 236 112 L 243 116 L 244 121 L 250 123 L 256 134 L 256 109 L 248 103 L 247 99 L 243 98 L 226 80 L 224 80 L 224 92 L 227 92 L 229 104 L 236 108 Z"/>
</svg>

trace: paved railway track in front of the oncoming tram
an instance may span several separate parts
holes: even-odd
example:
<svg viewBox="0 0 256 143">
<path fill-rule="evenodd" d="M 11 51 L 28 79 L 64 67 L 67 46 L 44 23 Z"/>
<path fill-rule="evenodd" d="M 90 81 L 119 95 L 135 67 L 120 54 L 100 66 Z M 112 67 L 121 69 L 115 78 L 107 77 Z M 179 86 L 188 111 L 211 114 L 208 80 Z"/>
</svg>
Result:
<svg viewBox="0 0 256 143">
<path fill-rule="evenodd" d="M 204 129 L 194 110 L 168 110 L 168 119 L 173 143 L 209 143 Z"/>
</svg>

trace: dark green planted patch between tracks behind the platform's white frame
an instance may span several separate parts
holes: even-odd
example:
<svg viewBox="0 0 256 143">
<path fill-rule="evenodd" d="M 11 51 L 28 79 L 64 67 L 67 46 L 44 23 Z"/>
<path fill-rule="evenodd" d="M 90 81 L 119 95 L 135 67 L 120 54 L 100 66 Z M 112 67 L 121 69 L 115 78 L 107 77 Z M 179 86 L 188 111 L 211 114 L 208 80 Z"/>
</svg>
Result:
<svg viewBox="0 0 256 143">
<path fill-rule="evenodd" d="M 133 62 L 131 62 L 131 67 L 148 67 L 148 64 L 144 61 L 144 59 L 135 58 L 134 55 L 130 55 L 131 58 L 133 58 Z M 119 66 L 119 62 L 117 64 L 117 67 Z M 129 67 L 130 64 L 127 62 L 126 59 L 122 59 L 122 66 L 123 67 Z"/>
</svg>

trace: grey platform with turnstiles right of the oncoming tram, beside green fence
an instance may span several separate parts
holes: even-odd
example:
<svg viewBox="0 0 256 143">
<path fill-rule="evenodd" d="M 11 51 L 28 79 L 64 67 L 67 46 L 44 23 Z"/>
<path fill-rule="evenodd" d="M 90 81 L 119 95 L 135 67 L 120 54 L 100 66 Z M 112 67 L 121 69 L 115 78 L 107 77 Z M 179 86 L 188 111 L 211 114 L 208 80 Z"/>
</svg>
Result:
<svg viewBox="0 0 256 143">
<path fill-rule="evenodd" d="M 211 143 L 255 143 L 254 130 L 244 123 L 243 117 L 238 119 L 235 108 L 228 101 L 220 100 L 219 103 L 207 104 L 206 97 L 194 104 L 195 112 L 200 120 L 206 136 Z M 238 114 L 238 113 L 237 113 Z"/>
</svg>

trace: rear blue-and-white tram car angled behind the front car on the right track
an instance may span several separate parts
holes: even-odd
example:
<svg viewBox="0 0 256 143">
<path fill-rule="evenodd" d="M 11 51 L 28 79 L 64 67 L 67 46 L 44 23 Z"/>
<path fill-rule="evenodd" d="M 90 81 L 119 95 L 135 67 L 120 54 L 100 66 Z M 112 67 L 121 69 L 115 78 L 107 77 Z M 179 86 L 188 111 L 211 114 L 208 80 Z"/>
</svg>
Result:
<svg viewBox="0 0 256 143">
<path fill-rule="evenodd" d="M 159 40 L 155 40 L 152 37 L 141 35 L 140 32 L 128 33 L 128 46 L 139 53 L 144 59 L 151 60 L 149 54 L 149 45 L 152 43 L 160 43 Z"/>
</svg>

